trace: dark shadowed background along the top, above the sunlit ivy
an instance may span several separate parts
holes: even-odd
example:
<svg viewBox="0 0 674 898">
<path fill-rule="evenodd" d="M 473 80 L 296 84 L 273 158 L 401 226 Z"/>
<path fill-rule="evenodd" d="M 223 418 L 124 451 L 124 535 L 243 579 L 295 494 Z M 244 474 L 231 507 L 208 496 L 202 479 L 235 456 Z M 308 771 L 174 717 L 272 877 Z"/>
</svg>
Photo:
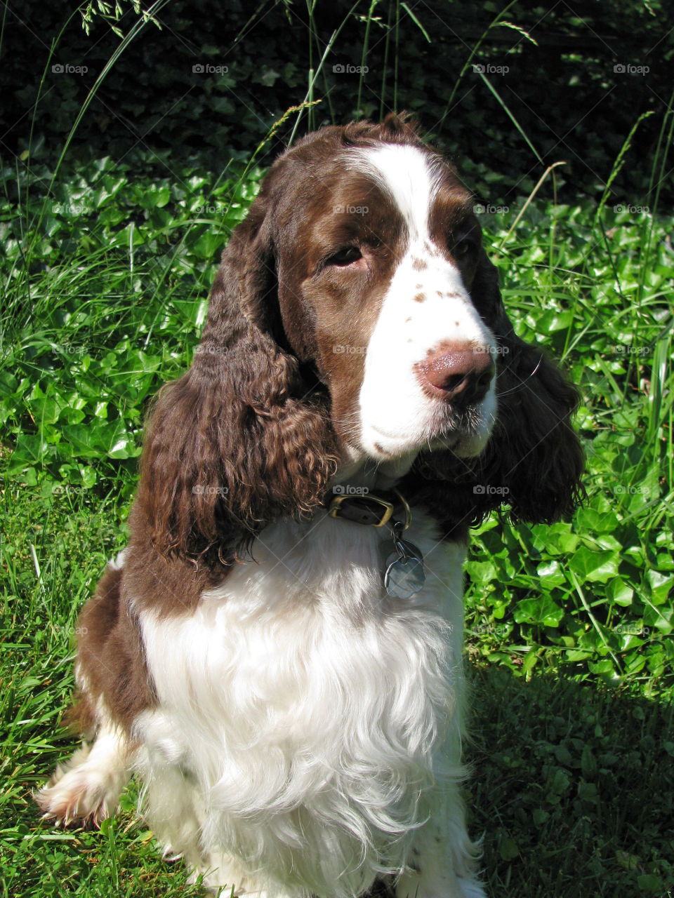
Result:
<svg viewBox="0 0 674 898">
<path fill-rule="evenodd" d="M 162 30 L 147 25 L 116 62 L 70 152 L 133 160 L 138 148 L 148 147 L 162 157 L 156 162 L 164 175 L 167 160 L 188 158 L 220 171 L 237 151 L 247 157 L 271 124 L 305 98 L 309 66 L 317 66 L 341 27 L 315 84 L 315 99 L 322 102 L 313 126 L 378 119 L 395 105 L 412 110 L 493 201 L 527 194 L 545 167 L 559 160 L 566 162 L 557 170 L 560 198 L 570 201 L 600 197 L 630 129 L 642 113 L 652 112 L 637 129 L 610 194 L 610 202 L 652 207 L 651 161 L 674 82 L 671 4 L 521 0 L 503 15 L 509 26 L 488 31 L 472 61 L 485 67 L 544 164 L 473 66 L 459 78 L 471 50 L 506 4 L 471 8 L 411 0 L 407 5 L 418 23 L 401 8 L 394 102 L 395 29 L 387 57 L 386 31 L 388 22 L 395 24 L 396 4 L 383 0 L 368 32 L 368 73 L 359 105 L 359 75 L 348 66 L 361 64 L 369 4 L 359 4 L 352 15 L 350 5 L 319 0 L 311 22 L 300 3 L 173 0 L 159 13 Z M 120 28 L 126 32 L 135 15 L 127 4 L 123 8 Z M 50 42 L 73 9 L 41 0 L 11 0 L 4 8 L 0 152 L 5 160 L 27 148 L 31 130 L 33 158 L 58 154 L 89 88 L 120 43 L 100 20 L 87 36 L 75 13 L 48 66 Z M 52 72 L 54 65 L 63 71 Z M 82 66 L 86 72 L 73 71 Z M 204 71 L 194 72 L 193 66 Z M 504 67 L 507 72 L 499 71 Z M 270 163 L 294 120 L 279 129 L 261 164 Z M 298 134 L 304 130 L 306 114 Z M 663 200 L 674 198 L 669 177 L 662 189 Z"/>
</svg>

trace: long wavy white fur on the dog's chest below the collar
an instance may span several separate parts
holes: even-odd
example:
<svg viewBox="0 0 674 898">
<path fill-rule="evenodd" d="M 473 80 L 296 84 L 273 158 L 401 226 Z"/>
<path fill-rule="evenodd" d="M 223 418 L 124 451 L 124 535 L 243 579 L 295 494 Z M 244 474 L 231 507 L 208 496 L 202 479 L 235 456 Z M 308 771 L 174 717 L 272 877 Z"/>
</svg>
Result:
<svg viewBox="0 0 674 898">
<path fill-rule="evenodd" d="M 412 599 L 384 590 L 386 528 L 320 515 L 265 529 L 257 563 L 234 568 L 190 616 L 141 612 L 160 709 L 137 729 L 164 841 L 177 799 L 164 807 L 162 780 L 182 778 L 195 850 L 235 853 L 249 872 L 271 866 L 286 889 L 339 879 L 347 894 L 372 864 L 402 867 L 428 813 L 420 795 L 439 772 L 439 732 L 448 718 L 458 726 L 463 621 L 464 547 L 413 520 L 427 581 Z"/>
</svg>

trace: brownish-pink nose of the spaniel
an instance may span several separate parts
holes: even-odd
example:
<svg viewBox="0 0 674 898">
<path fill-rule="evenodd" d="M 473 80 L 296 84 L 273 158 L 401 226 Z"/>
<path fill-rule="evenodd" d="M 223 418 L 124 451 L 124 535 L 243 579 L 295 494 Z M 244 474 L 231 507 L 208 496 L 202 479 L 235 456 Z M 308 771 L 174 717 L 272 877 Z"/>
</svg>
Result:
<svg viewBox="0 0 674 898">
<path fill-rule="evenodd" d="M 496 370 L 486 347 L 442 348 L 418 365 L 421 384 L 459 408 L 484 399 Z"/>
</svg>

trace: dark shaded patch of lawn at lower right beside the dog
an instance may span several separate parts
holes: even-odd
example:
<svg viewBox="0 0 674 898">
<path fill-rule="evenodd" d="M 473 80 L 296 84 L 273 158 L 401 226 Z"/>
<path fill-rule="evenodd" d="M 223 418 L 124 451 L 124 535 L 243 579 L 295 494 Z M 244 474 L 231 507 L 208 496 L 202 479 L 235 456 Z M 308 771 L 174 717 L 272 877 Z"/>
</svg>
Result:
<svg viewBox="0 0 674 898">
<path fill-rule="evenodd" d="M 473 698 L 471 801 L 489 893 L 666 895 L 671 706 L 495 665 L 479 669 Z"/>
</svg>

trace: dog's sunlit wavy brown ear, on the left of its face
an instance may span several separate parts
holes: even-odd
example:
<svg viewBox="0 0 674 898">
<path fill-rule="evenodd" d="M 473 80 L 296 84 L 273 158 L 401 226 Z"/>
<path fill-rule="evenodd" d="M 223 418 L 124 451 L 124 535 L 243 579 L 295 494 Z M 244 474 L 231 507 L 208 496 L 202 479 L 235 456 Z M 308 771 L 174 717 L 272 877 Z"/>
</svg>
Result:
<svg viewBox="0 0 674 898">
<path fill-rule="evenodd" d="M 264 524 L 318 504 L 336 467 L 322 400 L 278 342 L 271 206 L 263 186 L 223 253 L 191 369 L 146 427 L 138 502 L 164 554 L 231 559 Z"/>
</svg>

